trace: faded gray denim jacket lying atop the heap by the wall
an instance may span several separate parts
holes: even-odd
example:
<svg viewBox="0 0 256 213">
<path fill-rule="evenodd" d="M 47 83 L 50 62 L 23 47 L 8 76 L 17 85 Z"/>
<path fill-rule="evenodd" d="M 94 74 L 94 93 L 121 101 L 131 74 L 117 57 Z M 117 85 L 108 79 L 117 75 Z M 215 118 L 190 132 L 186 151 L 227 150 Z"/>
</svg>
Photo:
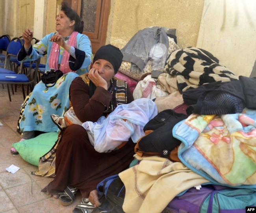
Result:
<svg viewBox="0 0 256 213">
<path fill-rule="evenodd" d="M 131 72 L 140 72 L 148 60 L 152 70 L 162 71 L 168 57 L 168 34 L 175 35 L 175 29 L 148 27 L 138 31 L 121 49 L 123 61 L 132 62 Z"/>
</svg>

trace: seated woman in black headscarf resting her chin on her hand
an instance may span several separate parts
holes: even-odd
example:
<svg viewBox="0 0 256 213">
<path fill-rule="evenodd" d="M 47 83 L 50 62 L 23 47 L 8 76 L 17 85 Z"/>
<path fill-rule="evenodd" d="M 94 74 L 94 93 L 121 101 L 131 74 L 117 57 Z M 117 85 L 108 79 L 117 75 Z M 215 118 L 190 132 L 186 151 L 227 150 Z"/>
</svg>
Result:
<svg viewBox="0 0 256 213">
<path fill-rule="evenodd" d="M 96 122 L 119 104 L 134 100 L 126 82 L 113 78 L 121 66 L 122 57 L 121 51 L 115 46 L 100 47 L 89 73 L 72 81 L 70 101 L 82 122 Z M 56 151 L 56 176 L 42 191 L 56 198 L 61 193 L 61 203 L 67 206 L 74 201 L 74 194 L 79 189 L 83 198 L 89 198 L 91 204 L 99 206 L 97 184 L 129 166 L 134 159 L 134 146 L 129 140 L 115 151 L 98 153 L 82 126 L 68 126 L 63 130 Z"/>
</svg>

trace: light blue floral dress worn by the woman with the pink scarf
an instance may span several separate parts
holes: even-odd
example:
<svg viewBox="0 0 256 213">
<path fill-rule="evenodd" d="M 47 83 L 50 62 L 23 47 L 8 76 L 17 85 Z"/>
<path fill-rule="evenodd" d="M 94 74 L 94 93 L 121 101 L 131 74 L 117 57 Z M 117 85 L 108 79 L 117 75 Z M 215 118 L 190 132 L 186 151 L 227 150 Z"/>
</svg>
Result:
<svg viewBox="0 0 256 213">
<path fill-rule="evenodd" d="M 53 44 L 53 42 L 50 42 L 50 38 L 54 34 L 46 35 L 40 42 L 33 45 L 32 53 L 27 55 L 22 61 L 36 60 L 47 54 L 46 71 L 50 70 L 49 56 Z M 68 38 L 64 40 L 67 42 Z M 89 38 L 78 33 L 76 36 L 76 46 L 77 49 L 85 52 L 82 66 L 76 72 L 69 72 L 63 75 L 52 87 L 46 87 L 42 81 L 36 84 L 22 113 L 19 124 L 20 131 L 58 131 L 58 127 L 52 122 L 50 115 L 63 116 L 69 107 L 69 87 L 72 80 L 83 73 L 87 73 L 91 64 L 92 53 Z M 64 53 L 63 47 L 60 47 L 59 53 L 58 64 L 61 63 Z"/>
</svg>

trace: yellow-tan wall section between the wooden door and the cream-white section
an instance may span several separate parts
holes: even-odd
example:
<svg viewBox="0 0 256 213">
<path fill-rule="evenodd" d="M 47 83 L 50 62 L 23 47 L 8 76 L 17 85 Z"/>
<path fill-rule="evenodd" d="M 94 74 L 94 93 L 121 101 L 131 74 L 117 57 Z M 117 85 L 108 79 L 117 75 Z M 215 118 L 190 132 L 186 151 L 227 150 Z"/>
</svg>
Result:
<svg viewBox="0 0 256 213">
<path fill-rule="evenodd" d="M 115 0 L 109 43 L 123 47 L 137 31 L 151 26 L 176 28 L 180 47 L 195 46 L 204 0 Z"/>
</svg>

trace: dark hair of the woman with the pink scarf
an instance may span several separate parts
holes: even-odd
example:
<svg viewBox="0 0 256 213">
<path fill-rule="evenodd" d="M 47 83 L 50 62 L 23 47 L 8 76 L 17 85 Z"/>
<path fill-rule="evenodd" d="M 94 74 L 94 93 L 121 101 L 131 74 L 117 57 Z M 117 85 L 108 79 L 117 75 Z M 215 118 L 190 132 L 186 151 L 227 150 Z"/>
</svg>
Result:
<svg viewBox="0 0 256 213">
<path fill-rule="evenodd" d="M 78 33 L 82 33 L 83 23 L 81 22 L 80 17 L 76 11 L 74 11 L 67 2 L 61 2 L 61 11 L 63 11 L 65 15 L 69 17 L 70 21 L 75 21 L 74 30 L 78 31 Z"/>
</svg>

